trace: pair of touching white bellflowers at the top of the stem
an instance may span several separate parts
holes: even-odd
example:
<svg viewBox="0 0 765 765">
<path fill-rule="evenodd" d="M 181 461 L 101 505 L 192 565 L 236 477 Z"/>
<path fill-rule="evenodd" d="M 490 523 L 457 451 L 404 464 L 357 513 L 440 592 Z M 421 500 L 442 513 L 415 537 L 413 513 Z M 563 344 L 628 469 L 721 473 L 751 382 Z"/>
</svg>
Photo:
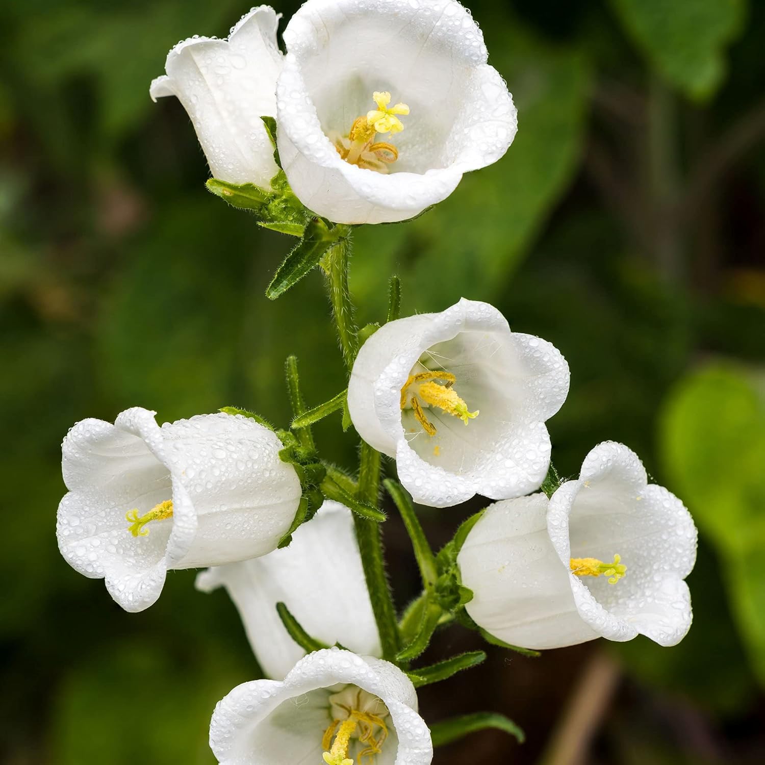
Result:
<svg viewBox="0 0 765 765">
<path fill-rule="evenodd" d="M 181 100 L 221 181 L 269 187 L 278 168 L 260 118 L 275 117 L 305 207 L 386 223 L 441 202 L 513 142 L 513 99 L 455 0 L 309 0 L 285 28 L 285 55 L 278 18 L 261 5 L 227 40 L 190 37 L 151 83 L 153 99 Z"/>
</svg>

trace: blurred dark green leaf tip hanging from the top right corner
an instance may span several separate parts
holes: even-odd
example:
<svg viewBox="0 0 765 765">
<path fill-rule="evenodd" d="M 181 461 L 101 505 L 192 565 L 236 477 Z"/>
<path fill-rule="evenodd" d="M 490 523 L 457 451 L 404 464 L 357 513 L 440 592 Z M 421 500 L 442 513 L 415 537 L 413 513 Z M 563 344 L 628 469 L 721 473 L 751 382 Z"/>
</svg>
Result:
<svg viewBox="0 0 765 765">
<path fill-rule="evenodd" d="M 724 50 L 743 28 L 743 0 L 611 0 L 624 28 L 667 82 L 692 99 L 715 94 Z"/>
</svg>

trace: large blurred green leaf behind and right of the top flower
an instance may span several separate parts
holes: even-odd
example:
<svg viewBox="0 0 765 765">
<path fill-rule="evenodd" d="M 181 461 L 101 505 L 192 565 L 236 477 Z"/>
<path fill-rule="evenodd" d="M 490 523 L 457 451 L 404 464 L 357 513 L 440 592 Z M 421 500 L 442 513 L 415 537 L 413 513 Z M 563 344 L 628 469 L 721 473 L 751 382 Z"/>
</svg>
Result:
<svg viewBox="0 0 765 765">
<path fill-rule="evenodd" d="M 478 21 L 490 63 L 518 107 L 518 134 L 505 157 L 467 174 L 448 200 L 414 222 L 356 234 L 351 287 L 380 315 L 386 269 L 401 275 L 410 310 L 440 311 L 461 297 L 492 301 L 577 166 L 591 82 L 584 57 L 542 43 L 507 18 Z"/>
</svg>

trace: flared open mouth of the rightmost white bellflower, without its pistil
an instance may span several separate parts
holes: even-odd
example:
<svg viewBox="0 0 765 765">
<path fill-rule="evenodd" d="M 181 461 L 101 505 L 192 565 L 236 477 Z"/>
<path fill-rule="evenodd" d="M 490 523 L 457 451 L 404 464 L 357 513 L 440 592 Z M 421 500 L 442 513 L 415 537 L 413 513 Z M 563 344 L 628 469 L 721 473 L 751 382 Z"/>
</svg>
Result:
<svg viewBox="0 0 765 765">
<path fill-rule="evenodd" d="M 648 485 L 643 464 L 623 444 L 598 444 L 578 480 L 552 496 L 548 529 L 558 556 L 611 560 L 621 555 L 627 574 L 570 576 L 571 590 L 590 626 L 609 640 L 642 633 L 674 645 L 690 627 L 688 589 L 682 579 L 695 562 L 696 529 L 682 502 Z M 586 581 L 585 581 L 586 580 Z"/>
</svg>

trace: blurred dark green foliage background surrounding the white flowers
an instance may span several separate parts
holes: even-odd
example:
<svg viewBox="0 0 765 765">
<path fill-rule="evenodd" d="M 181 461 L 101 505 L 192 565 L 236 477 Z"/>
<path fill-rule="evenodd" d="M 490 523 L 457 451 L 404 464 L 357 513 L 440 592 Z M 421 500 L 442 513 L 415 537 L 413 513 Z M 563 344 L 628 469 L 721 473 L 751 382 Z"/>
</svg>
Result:
<svg viewBox="0 0 765 765">
<path fill-rule="evenodd" d="M 294 2 L 278 6 L 288 17 Z M 575 474 L 623 441 L 701 531 L 688 638 L 541 659 L 496 649 L 425 688 L 428 721 L 493 709 L 520 747 L 477 734 L 435 763 L 765 761 L 765 3 L 475 0 L 519 109 L 508 155 L 435 210 L 356 236 L 361 323 L 462 295 L 496 304 L 571 364 L 549 423 Z M 239 0 L 0 5 L 0 760 L 213 763 L 215 702 L 256 665 L 233 606 L 173 572 L 125 614 L 58 555 L 60 441 L 77 420 L 236 404 L 285 423 L 282 364 L 309 403 L 344 386 L 318 272 L 276 303 L 289 243 L 207 194 L 180 104 L 148 84 L 190 34 L 223 36 Z M 369 252 L 376 252 L 374 258 Z M 338 423 L 317 436 L 353 465 Z M 391 470 L 391 466 L 388 466 Z M 480 506 L 480 503 L 474 503 Z M 422 513 L 445 542 L 467 508 Z M 396 599 L 417 574 L 386 523 Z M 426 658 L 478 646 L 458 629 Z M 276 763 L 275 763 L 276 765 Z M 282 765 L 282 763 L 278 763 Z M 287 763 L 283 763 L 287 765 Z"/>
</svg>

